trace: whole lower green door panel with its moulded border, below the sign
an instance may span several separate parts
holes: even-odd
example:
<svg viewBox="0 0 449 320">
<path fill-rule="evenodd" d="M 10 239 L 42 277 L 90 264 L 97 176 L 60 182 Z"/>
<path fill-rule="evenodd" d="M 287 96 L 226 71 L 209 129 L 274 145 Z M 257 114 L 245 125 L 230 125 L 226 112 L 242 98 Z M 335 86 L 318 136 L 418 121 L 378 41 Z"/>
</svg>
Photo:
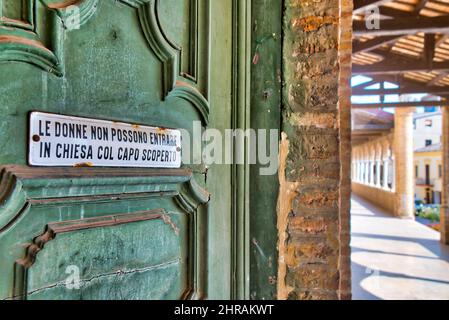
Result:
<svg viewBox="0 0 449 320">
<path fill-rule="evenodd" d="M 0 194 L 4 201 L 0 208 L 0 296 L 3 299 L 23 298 L 28 294 L 58 299 L 181 298 L 203 292 L 204 288 L 197 282 L 202 270 L 188 266 L 187 260 L 205 254 L 199 252 L 204 249 L 192 237 L 205 236 L 198 223 L 202 213 L 195 208 L 207 203 L 209 195 L 196 185 L 189 171 L 61 168 L 48 172 L 8 166 L 1 177 Z M 163 214 L 151 220 L 134 217 L 151 210 L 162 210 Z M 118 217 L 111 219 L 111 215 L 129 221 L 117 226 L 107 223 L 92 226 L 89 220 L 118 221 Z M 74 230 L 56 234 L 48 243 L 42 241 L 40 237 L 52 224 L 63 221 L 69 221 L 67 225 L 84 225 L 85 229 L 72 227 Z M 35 264 L 24 262 L 30 261 L 30 255 L 36 252 L 33 243 L 41 249 Z M 186 246 L 188 243 L 190 246 Z M 39 290 L 64 281 L 69 265 L 80 268 L 82 280 L 104 276 L 105 283 L 97 279 L 94 286 L 76 292 L 63 288 Z M 23 268 L 25 272 L 21 271 Z M 133 275 L 134 269 L 142 269 L 147 274 L 146 280 L 140 273 Z M 126 276 L 120 271 L 125 271 Z M 118 276 L 112 285 L 109 280 L 113 274 Z M 158 275 L 167 276 L 166 282 Z M 161 287 L 148 280 L 153 278 Z M 173 283 L 173 290 L 165 291 L 167 283 Z M 99 295 L 106 291 L 107 295 Z"/>
</svg>

